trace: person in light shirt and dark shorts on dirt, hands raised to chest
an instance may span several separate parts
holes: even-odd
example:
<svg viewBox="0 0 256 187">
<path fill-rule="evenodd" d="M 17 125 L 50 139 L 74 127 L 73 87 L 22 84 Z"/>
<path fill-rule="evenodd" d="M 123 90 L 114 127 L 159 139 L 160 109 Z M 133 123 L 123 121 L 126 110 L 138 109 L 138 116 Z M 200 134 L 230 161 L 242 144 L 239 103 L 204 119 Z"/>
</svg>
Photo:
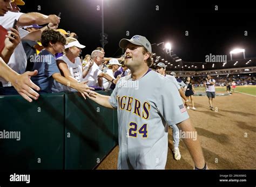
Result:
<svg viewBox="0 0 256 187">
<path fill-rule="evenodd" d="M 215 98 L 215 80 L 212 79 L 211 75 L 207 75 L 204 81 L 204 87 L 206 88 L 206 95 L 209 100 L 210 110 L 214 110 L 212 106 L 213 98 Z"/>
</svg>

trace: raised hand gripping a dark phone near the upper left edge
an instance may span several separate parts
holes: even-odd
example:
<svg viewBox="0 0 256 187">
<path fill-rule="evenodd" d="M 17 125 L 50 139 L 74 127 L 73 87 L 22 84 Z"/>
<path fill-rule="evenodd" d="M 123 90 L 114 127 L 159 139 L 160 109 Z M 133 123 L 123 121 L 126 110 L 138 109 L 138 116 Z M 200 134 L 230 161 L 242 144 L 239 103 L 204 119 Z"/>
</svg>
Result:
<svg viewBox="0 0 256 187">
<path fill-rule="evenodd" d="M 9 35 L 5 35 L 4 45 L 6 49 L 14 51 L 17 45 L 21 42 L 21 37 L 19 37 L 18 27 L 16 29 L 10 28 L 11 30 L 8 32 Z M 14 37 L 11 37 L 13 35 Z"/>
</svg>

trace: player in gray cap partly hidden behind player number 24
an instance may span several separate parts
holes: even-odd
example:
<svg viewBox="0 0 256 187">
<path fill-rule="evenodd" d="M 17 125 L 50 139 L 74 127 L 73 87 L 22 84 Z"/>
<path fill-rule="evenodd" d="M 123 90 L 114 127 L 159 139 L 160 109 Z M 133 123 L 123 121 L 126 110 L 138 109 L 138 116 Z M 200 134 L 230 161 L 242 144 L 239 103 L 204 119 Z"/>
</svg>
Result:
<svg viewBox="0 0 256 187">
<path fill-rule="evenodd" d="M 188 102 L 188 99 L 184 95 L 183 90 L 181 89 L 180 85 L 178 84 L 178 81 L 176 80 L 176 78 L 172 75 L 166 75 L 165 69 L 166 69 L 165 64 L 163 62 L 159 62 L 157 64 L 157 69 L 156 69 L 157 73 L 159 73 L 160 75 L 165 76 L 170 81 L 172 81 L 176 85 L 177 89 L 179 90 L 180 96 L 185 100 L 185 103 Z M 169 126 L 172 128 L 172 134 L 173 134 L 174 148 L 172 149 L 172 151 L 174 153 L 174 158 L 175 158 L 175 160 L 180 160 L 181 154 L 180 154 L 180 151 L 179 151 L 179 128 L 175 124 L 169 124 Z"/>
</svg>

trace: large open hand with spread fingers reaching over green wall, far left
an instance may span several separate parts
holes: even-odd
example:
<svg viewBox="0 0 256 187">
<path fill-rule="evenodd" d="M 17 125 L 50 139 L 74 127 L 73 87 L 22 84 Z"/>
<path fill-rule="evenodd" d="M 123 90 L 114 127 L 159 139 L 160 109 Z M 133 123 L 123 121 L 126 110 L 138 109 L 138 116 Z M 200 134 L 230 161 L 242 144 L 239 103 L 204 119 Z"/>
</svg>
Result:
<svg viewBox="0 0 256 187">
<path fill-rule="evenodd" d="M 28 102 L 32 102 L 31 98 L 37 100 L 39 97 L 39 94 L 33 89 L 39 91 L 40 88 L 30 80 L 30 77 L 37 75 L 37 73 L 37 70 L 26 71 L 22 75 L 17 74 L 11 80 L 11 84 L 14 86 L 14 88 L 24 99 L 28 100 Z"/>
</svg>

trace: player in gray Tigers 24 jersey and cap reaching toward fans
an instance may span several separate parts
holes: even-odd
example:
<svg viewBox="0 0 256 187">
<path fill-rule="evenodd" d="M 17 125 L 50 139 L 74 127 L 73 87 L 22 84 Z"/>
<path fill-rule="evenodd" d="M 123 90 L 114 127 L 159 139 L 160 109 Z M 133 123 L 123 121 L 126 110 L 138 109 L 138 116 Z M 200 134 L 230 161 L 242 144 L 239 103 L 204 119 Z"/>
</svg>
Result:
<svg viewBox="0 0 256 187">
<path fill-rule="evenodd" d="M 168 125 L 182 131 L 196 131 L 191 125 L 176 85 L 149 69 L 151 44 L 141 35 L 122 39 L 125 65 L 131 74 L 120 78 L 111 96 L 93 92 L 96 103 L 117 109 L 118 169 L 165 169 L 168 150 Z M 138 85 L 138 87 L 131 87 Z M 206 169 L 198 139 L 183 139 L 196 169 Z"/>
</svg>

